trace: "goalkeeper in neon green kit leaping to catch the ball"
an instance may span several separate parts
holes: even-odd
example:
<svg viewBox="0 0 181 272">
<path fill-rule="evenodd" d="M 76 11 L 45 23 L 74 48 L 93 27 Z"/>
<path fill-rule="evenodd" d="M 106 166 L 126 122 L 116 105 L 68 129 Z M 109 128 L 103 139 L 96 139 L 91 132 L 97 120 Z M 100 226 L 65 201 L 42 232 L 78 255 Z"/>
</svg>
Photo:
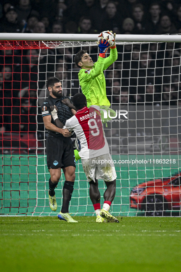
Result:
<svg viewBox="0 0 181 272">
<path fill-rule="evenodd" d="M 114 37 L 116 34 L 114 33 Z M 115 42 L 112 46 L 111 40 L 109 39 L 100 39 L 100 43 L 98 43 L 98 47 L 100 48 L 100 54 L 96 63 L 93 63 L 91 57 L 87 53 L 86 50 L 79 51 L 74 58 L 74 62 L 76 65 L 81 68 L 78 77 L 80 81 L 80 86 L 82 93 L 86 96 L 87 106 L 98 105 L 100 109 L 108 110 L 110 116 L 115 116 L 115 111 L 110 109 L 110 102 L 106 96 L 106 81 L 104 77 L 104 70 L 107 69 L 115 60 L 118 58 L 118 52 L 115 46 Z M 105 58 L 105 53 L 108 48 L 110 50 L 110 56 Z M 100 111 L 102 121 L 105 123 L 109 117 L 104 120 L 103 111 Z"/>
</svg>

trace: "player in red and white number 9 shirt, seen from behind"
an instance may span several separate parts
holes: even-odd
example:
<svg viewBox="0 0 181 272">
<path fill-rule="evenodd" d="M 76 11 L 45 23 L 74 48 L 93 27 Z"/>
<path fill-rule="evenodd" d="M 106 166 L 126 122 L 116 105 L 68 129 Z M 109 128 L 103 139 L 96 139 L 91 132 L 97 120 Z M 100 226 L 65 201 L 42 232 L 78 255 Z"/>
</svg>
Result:
<svg viewBox="0 0 181 272">
<path fill-rule="evenodd" d="M 74 131 L 81 142 L 79 155 L 90 185 L 89 195 L 96 211 L 96 222 L 102 223 L 106 218 L 107 222 L 119 223 L 117 218 L 109 213 L 116 192 L 116 172 L 104 136 L 100 113 L 95 106 L 87 108 L 86 97 L 82 93 L 75 94 L 72 101 L 77 112 L 66 121 L 64 128 L 70 132 Z M 102 209 L 98 179 L 103 179 L 107 186 Z"/>
</svg>

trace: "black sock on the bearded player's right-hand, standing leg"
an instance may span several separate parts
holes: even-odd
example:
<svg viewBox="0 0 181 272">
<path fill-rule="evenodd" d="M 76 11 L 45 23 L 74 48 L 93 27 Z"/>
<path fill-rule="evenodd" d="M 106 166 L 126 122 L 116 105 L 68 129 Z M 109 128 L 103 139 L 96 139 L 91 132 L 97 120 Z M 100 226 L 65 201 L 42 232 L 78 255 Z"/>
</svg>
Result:
<svg viewBox="0 0 181 272">
<path fill-rule="evenodd" d="M 74 190 L 74 182 L 73 181 L 65 181 L 63 186 L 63 201 L 62 201 L 62 213 L 69 212 L 69 203 L 72 197 L 72 192 Z"/>
</svg>

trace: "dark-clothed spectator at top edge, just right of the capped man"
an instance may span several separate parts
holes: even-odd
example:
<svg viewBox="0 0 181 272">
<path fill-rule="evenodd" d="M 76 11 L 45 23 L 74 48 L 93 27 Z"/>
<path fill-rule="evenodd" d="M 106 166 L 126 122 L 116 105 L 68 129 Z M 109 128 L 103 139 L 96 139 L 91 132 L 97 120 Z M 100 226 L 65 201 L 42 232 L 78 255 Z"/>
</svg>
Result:
<svg viewBox="0 0 181 272">
<path fill-rule="evenodd" d="M 33 10 L 30 0 L 19 0 L 16 10 L 18 14 L 18 21 L 20 22 L 22 28 L 27 22 L 28 16 L 33 14 L 36 17 L 39 17 L 39 13 L 36 10 Z"/>
</svg>

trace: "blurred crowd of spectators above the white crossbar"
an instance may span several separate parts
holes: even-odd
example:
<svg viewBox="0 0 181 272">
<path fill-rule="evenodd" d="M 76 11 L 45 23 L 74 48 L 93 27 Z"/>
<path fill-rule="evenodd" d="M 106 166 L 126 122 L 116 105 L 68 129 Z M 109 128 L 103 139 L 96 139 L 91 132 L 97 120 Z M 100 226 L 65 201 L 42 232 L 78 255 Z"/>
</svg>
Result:
<svg viewBox="0 0 181 272">
<path fill-rule="evenodd" d="M 181 33 L 180 0 L 2 0 L 0 32 Z"/>
</svg>

